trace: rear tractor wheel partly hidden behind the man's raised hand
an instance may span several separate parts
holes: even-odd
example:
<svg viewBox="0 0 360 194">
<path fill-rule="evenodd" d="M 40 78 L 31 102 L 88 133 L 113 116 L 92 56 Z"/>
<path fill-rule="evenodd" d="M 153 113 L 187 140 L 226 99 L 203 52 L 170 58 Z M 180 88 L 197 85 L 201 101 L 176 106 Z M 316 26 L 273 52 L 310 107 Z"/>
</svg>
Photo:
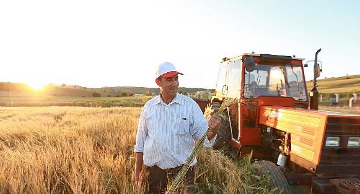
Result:
<svg viewBox="0 0 360 194">
<path fill-rule="evenodd" d="M 205 118 L 210 118 L 210 113 L 216 113 L 220 108 L 220 103 L 212 102 L 206 106 L 205 109 Z M 231 132 L 228 121 L 221 119 L 221 126 L 219 132 L 217 132 L 217 137 L 214 143 L 215 149 L 227 148 L 230 144 Z"/>
</svg>

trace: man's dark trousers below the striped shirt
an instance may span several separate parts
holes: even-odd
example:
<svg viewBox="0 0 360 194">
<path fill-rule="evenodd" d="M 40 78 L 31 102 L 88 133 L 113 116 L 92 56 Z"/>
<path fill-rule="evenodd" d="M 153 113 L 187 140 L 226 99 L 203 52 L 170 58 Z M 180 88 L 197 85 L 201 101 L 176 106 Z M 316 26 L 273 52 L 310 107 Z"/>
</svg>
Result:
<svg viewBox="0 0 360 194">
<path fill-rule="evenodd" d="M 163 170 L 158 166 L 148 166 L 146 171 L 148 173 L 149 181 L 149 193 L 150 194 L 164 194 L 167 188 L 167 182 L 172 181 L 178 175 L 181 170 L 180 167 Z M 184 183 L 187 186 L 187 193 L 194 194 L 194 178 L 195 178 L 195 166 L 190 166 L 186 172 Z M 170 185 L 169 185 L 170 186 Z"/>
</svg>

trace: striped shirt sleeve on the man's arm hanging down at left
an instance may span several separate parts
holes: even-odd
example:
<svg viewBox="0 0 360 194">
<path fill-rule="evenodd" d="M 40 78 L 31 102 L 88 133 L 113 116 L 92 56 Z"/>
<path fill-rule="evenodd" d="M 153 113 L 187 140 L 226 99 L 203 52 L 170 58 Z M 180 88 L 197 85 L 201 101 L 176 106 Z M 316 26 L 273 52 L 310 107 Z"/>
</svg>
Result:
<svg viewBox="0 0 360 194">
<path fill-rule="evenodd" d="M 148 134 L 148 129 L 146 127 L 146 104 L 144 105 L 138 124 L 138 131 L 136 132 L 136 145 L 134 146 L 134 152 L 144 152 L 144 142 Z"/>
</svg>

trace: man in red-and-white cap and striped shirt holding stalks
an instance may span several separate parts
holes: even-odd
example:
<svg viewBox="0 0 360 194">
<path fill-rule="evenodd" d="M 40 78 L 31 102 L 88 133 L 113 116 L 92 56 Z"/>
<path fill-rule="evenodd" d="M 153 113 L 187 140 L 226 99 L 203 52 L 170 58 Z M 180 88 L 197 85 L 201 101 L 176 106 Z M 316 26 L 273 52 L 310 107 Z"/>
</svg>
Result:
<svg viewBox="0 0 360 194">
<path fill-rule="evenodd" d="M 213 146 L 220 129 L 221 118 L 216 114 L 207 122 L 198 104 L 178 94 L 179 73 L 171 63 L 162 63 L 157 69 L 156 83 L 160 95 L 146 102 L 139 118 L 136 134 L 134 181 L 142 181 L 142 166 L 146 166 L 149 192 L 163 193 L 167 180 L 179 173 L 199 140 L 210 128 L 204 146 Z M 186 173 L 188 193 L 194 192 L 195 163 Z"/>
</svg>

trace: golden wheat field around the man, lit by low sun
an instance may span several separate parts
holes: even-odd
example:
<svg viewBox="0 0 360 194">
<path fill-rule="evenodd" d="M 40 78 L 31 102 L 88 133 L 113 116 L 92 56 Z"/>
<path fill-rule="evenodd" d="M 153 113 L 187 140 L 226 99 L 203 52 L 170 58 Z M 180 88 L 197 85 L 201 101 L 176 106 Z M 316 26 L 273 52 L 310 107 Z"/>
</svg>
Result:
<svg viewBox="0 0 360 194">
<path fill-rule="evenodd" d="M 0 193 L 146 194 L 131 182 L 141 108 L 0 107 Z M 202 149 L 203 194 L 280 193 L 253 175 L 250 157 L 232 162 Z"/>
</svg>

